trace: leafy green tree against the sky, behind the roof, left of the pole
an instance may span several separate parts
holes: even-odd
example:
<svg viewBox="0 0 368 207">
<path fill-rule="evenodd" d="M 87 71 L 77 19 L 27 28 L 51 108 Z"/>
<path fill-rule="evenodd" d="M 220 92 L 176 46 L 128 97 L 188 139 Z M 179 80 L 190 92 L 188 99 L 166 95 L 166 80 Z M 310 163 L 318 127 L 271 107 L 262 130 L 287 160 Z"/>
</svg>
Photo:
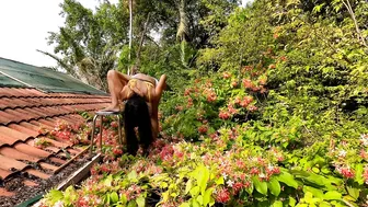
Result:
<svg viewBox="0 0 368 207">
<path fill-rule="evenodd" d="M 74 0 L 65 0 L 60 7 L 66 24 L 48 37 L 55 55 L 42 53 L 56 59 L 71 76 L 107 90 L 106 73 L 115 67 L 116 54 L 127 42 L 126 11 L 108 1 L 95 13 Z"/>
</svg>

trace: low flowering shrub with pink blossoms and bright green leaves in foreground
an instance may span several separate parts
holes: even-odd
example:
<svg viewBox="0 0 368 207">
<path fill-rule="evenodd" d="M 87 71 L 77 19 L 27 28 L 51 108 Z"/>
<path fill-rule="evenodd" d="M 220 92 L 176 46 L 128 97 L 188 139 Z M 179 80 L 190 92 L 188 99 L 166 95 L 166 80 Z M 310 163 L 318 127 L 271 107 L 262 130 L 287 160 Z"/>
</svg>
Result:
<svg viewBox="0 0 368 207">
<path fill-rule="evenodd" d="M 103 163 L 91 169 L 91 177 L 81 188 L 51 191 L 43 205 L 344 206 L 366 199 L 360 194 L 367 185 L 367 160 L 360 160 L 360 165 L 352 162 L 356 166 L 353 169 L 340 162 L 342 156 L 352 152 L 323 158 L 320 152 L 306 157 L 273 145 L 260 147 L 257 140 L 274 130 L 265 127 L 256 135 L 260 128 L 250 124 L 225 127 L 204 136 L 199 145 L 184 139 L 170 142 L 165 137 L 152 145 L 148 158 L 107 152 Z M 284 131 L 286 137 L 292 135 L 292 130 Z M 105 149 L 108 146 L 107 141 Z M 358 153 L 360 147 L 355 147 Z"/>
</svg>

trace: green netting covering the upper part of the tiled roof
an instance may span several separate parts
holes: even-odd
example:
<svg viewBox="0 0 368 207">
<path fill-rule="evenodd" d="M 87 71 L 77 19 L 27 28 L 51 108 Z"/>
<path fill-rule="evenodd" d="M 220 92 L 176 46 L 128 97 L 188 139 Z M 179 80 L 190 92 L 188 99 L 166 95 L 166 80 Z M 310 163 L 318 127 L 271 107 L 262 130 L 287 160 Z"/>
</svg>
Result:
<svg viewBox="0 0 368 207">
<path fill-rule="evenodd" d="M 47 68 L 0 58 L 0 71 L 45 92 L 106 95 L 105 92 L 90 87 L 69 74 Z M 9 85 L 12 84 L 8 79 L 4 80 L 7 81 L 3 83 L 2 79 L 0 79 L 2 85 L 7 85 L 7 82 L 10 83 Z"/>
</svg>

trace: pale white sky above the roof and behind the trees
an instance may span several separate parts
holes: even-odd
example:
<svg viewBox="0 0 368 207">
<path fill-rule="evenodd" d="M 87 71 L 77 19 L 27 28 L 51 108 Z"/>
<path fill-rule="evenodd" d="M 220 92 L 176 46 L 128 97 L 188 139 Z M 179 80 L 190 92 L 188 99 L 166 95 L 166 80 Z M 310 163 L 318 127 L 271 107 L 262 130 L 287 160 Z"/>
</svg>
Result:
<svg viewBox="0 0 368 207">
<path fill-rule="evenodd" d="M 54 67 L 56 61 L 37 51 L 54 54 L 48 32 L 64 25 L 59 4 L 64 0 L 0 0 L 0 57 L 34 66 Z M 251 0 L 242 0 L 243 4 Z M 79 0 L 93 9 L 99 0 Z M 117 2 L 117 0 L 111 0 Z"/>
</svg>

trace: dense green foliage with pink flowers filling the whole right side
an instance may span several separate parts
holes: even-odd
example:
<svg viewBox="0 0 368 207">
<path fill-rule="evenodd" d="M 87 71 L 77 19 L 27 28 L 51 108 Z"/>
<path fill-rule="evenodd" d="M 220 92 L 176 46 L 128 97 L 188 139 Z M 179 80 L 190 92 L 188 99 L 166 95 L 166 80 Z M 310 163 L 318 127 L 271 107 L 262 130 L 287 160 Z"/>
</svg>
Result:
<svg viewBox="0 0 368 207">
<path fill-rule="evenodd" d="M 141 70 L 168 73 L 172 87 L 160 105 L 164 141 L 147 159 L 102 164 L 95 183 L 69 194 L 116 206 L 366 205 L 367 2 L 186 3 L 200 34 L 214 34 L 206 47 L 193 41 L 182 61 L 188 47 L 173 45 L 176 27 L 168 27 L 162 47 L 141 50 Z M 78 202 L 54 191 L 46 200 Z"/>
</svg>

